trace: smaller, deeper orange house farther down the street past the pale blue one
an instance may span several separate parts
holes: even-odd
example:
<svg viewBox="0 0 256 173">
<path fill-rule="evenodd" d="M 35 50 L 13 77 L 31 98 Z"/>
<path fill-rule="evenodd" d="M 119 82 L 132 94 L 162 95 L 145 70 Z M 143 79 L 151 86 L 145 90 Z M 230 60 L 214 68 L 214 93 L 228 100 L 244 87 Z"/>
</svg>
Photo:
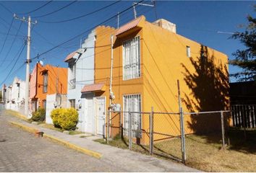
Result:
<svg viewBox="0 0 256 173">
<path fill-rule="evenodd" d="M 67 68 L 36 63 L 30 74 L 30 110 L 46 109 L 47 94 L 67 94 Z"/>
</svg>

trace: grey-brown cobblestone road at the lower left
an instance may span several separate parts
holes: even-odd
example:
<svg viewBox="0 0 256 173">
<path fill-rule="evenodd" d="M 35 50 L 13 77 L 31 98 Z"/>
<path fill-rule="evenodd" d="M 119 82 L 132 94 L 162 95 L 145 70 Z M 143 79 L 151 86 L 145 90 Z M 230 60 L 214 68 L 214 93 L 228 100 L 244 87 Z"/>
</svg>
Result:
<svg viewBox="0 0 256 173">
<path fill-rule="evenodd" d="M 14 128 L 10 119 L 0 110 L 0 172 L 125 172 Z"/>
</svg>

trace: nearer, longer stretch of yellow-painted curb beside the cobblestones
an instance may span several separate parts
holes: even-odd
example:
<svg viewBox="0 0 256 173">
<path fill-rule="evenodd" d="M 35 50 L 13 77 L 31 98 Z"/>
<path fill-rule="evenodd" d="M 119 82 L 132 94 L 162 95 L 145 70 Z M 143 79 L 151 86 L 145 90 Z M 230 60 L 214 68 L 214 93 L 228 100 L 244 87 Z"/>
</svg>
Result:
<svg viewBox="0 0 256 173">
<path fill-rule="evenodd" d="M 101 157 L 102 157 L 102 154 L 100 154 L 100 153 L 98 153 L 98 152 L 96 152 L 96 151 L 92 151 L 92 150 L 89 150 L 89 149 L 86 149 L 86 148 L 82 148 L 82 147 L 80 147 L 80 146 L 76 146 L 76 145 L 74 145 L 74 144 L 72 144 L 72 143 L 69 143 L 69 142 L 67 142 L 67 141 L 63 141 L 62 139 L 56 138 L 56 137 L 54 137 L 54 136 L 50 136 L 50 135 L 48 135 L 48 134 L 46 134 L 46 133 L 43 134 L 43 138 L 48 138 L 48 139 L 50 139 L 51 141 L 54 141 L 54 142 L 57 142 L 57 143 L 61 143 L 61 144 L 63 144 L 64 146 L 67 146 L 67 147 L 69 147 L 69 148 L 72 148 L 72 149 L 74 149 L 74 150 L 76 150 L 76 151 L 80 151 L 80 152 L 82 152 L 83 154 L 87 154 L 87 155 L 89 155 L 89 156 L 93 156 L 93 157 L 95 157 L 95 158 L 97 158 L 97 159 L 101 159 Z"/>
</svg>

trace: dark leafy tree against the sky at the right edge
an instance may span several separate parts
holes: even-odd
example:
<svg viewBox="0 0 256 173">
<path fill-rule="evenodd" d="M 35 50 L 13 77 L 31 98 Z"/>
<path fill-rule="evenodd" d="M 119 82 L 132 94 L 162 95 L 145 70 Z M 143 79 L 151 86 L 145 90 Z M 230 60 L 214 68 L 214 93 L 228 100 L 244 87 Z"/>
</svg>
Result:
<svg viewBox="0 0 256 173">
<path fill-rule="evenodd" d="M 254 6 L 256 11 L 256 5 Z M 231 65 L 239 66 L 244 71 L 231 76 L 239 81 L 256 81 L 256 18 L 248 16 L 249 25 L 244 32 L 235 32 L 231 36 L 233 39 L 240 40 L 245 45 L 244 50 L 236 50 L 232 55 L 234 60 L 229 61 Z"/>
</svg>

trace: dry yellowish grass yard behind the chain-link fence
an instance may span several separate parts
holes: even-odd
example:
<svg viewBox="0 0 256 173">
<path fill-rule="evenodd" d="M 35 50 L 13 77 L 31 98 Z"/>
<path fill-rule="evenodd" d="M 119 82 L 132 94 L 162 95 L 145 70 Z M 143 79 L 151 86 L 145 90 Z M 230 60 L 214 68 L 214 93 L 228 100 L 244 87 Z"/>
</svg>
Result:
<svg viewBox="0 0 256 173">
<path fill-rule="evenodd" d="M 222 150 L 221 136 L 186 136 L 186 164 L 189 167 L 205 172 L 256 172 L 256 130 L 247 131 L 247 141 L 244 141 L 243 131 L 231 129 L 227 132 L 230 146 Z M 105 139 L 96 139 L 106 144 Z M 128 149 L 128 140 L 114 138 L 110 146 Z M 148 154 L 148 146 L 132 143 L 132 150 Z M 166 156 L 182 158 L 181 141 L 173 138 L 154 143 L 153 156 L 169 159 Z"/>
</svg>

